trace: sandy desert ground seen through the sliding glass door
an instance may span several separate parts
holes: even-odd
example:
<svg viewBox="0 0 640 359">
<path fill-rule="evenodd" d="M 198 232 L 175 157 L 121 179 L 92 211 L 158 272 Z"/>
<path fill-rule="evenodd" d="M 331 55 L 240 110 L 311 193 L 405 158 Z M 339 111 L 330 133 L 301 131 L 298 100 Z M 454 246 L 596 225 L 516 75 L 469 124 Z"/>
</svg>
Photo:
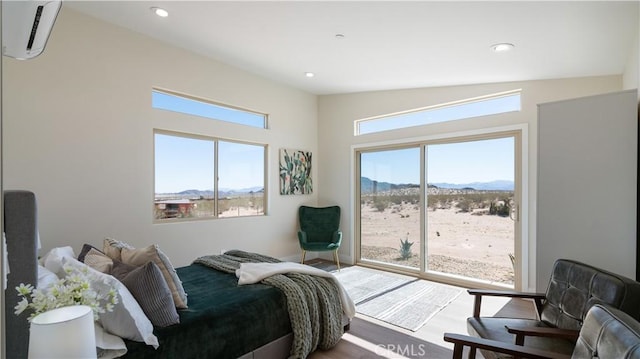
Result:
<svg viewBox="0 0 640 359">
<path fill-rule="evenodd" d="M 430 189 L 430 192 L 433 191 Z M 480 202 L 461 206 L 464 201 L 461 198 L 468 194 L 449 194 L 450 201 L 428 206 L 428 269 L 513 285 L 514 271 L 509 255 L 514 253 L 514 222 L 508 215 L 489 214 L 488 206 Z M 385 207 L 365 200 L 361 217 L 362 258 L 420 267 L 417 203 L 390 201 Z M 401 241 L 407 239 L 413 242 L 411 256 L 403 259 Z"/>
</svg>

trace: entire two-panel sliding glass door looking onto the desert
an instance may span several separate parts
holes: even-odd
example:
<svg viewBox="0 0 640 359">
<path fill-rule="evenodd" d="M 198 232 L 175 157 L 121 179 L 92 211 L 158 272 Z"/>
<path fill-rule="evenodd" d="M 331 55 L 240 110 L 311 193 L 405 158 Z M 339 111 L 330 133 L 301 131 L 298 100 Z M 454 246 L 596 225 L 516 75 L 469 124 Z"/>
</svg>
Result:
<svg viewBox="0 0 640 359">
<path fill-rule="evenodd" d="M 518 136 L 358 151 L 360 263 L 514 287 Z"/>
</svg>

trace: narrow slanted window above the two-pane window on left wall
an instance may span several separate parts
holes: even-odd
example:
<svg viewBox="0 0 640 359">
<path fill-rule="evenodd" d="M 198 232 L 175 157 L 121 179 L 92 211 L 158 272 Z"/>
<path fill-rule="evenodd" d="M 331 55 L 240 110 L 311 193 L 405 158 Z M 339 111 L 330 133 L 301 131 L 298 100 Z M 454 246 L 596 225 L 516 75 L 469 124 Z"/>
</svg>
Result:
<svg viewBox="0 0 640 359">
<path fill-rule="evenodd" d="M 185 113 L 212 120 L 225 121 L 258 128 L 267 128 L 267 115 L 232 106 L 214 104 L 175 93 L 152 90 L 151 107 Z"/>
</svg>

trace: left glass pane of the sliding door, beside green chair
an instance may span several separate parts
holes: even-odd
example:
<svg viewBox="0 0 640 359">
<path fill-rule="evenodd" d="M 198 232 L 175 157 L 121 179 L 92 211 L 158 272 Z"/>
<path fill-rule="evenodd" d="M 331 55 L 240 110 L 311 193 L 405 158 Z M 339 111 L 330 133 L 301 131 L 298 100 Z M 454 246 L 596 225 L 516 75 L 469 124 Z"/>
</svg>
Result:
<svg viewBox="0 0 640 359">
<path fill-rule="evenodd" d="M 360 258 L 420 268 L 419 146 L 360 154 Z"/>
</svg>

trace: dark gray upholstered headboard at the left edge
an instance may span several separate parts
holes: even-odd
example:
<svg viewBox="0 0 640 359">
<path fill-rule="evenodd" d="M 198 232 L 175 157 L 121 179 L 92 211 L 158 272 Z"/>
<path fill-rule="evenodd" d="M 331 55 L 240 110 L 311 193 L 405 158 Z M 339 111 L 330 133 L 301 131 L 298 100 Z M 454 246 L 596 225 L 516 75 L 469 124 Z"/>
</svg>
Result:
<svg viewBox="0 0 640 359">
<path fill-rule="evenodd" d="M 7 238 L 9 275 L 5 290 L 6 357 L 26 358 L 29 349 L 27 313 L 14 314 L 18 304 L 15 288 L 38 282 L 38 220 L 36 197 L 29 191 L 4 192 L 4 232 Z"/>
</svg>

